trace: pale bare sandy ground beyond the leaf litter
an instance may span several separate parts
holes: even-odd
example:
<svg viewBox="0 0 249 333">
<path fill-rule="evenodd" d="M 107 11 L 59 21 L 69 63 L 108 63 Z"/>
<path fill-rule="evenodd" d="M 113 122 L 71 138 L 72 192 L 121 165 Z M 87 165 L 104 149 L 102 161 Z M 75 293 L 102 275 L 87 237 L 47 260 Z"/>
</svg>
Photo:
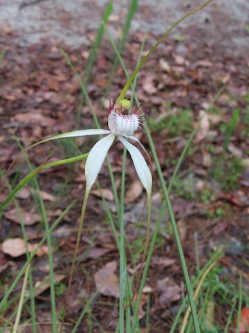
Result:
<svg viewBox="0 0 249 333">
<path fill-rule="evenodd" d="M 91 44 L 87 32 L 98 28 L 107 3 L 106 0 L 0 0 L 0 29 L 15 31 L 18 44 L 32 44 L 46 37 L 77 48 Z M 124 20 L 129 3 L 113 1 L 114 21 Z M 201 3 L 200 0 L 140 0 L 131 33 L 149 31 L 161 35 L 176 19 Z M 188 40 L 198 33 L 205 42 L 217 44 L 239 56 L 249 49 L 248 14 L 247 0 L 214 0 L 182 22 L 173 34 L 181 34 Z"/>
</svg>

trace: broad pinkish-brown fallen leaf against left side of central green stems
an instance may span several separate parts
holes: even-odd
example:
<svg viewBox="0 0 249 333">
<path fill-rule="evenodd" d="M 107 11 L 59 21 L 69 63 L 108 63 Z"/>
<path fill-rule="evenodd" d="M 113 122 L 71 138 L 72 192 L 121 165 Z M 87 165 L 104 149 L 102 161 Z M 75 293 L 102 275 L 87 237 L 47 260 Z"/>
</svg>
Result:
<svg viewBox="0 0 249 333">
<path fill-rule="evenodd" d="M 96 288 L 104 296 L 119 298 L 118 276 L 115 274 L 117 262 L 108 262 L 94 274 Z"/>
</svg>

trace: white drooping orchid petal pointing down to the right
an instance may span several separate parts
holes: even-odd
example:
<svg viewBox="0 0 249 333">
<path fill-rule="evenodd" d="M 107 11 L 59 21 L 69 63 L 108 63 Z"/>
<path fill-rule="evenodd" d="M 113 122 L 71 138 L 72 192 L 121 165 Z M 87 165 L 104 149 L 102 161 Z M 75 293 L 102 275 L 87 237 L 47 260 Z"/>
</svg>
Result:
<svg viewBox="0 0 249 333">
<path fill-rule="evenodd" d="M 145 162 L 145 158 L 142 156 L 140 151 L 138 151 L 138 148 L 133 146 L 133 144 L 130 144 L 126 139 L 121 136 L 119 136 L 118 139 L 120 139 L 125 148 L 127 148 L 127 151 L 129 151 L 140 182 L 142 182 L 142 185 L 145 187 L 147 193 L 151 193 L 152 177 L 149 167 Z"/>
</svg>

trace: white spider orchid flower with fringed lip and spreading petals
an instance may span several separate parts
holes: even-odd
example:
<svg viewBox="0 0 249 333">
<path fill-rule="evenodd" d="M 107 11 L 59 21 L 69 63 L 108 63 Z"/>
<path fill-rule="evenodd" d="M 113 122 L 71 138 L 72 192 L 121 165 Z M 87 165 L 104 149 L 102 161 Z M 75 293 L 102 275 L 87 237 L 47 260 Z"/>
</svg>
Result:
<svg viewBox="0 0 249 333">
<path fill-rule="evenodd" d="M 142 185 L 145 187 L 147 194 L 151 193 L 152 178 L 149 167 L 145 162 L 145 158 L 142 156 L 138 148 L 133 146 L 127 139 L 133 139 L 139 142 L 136 137 L 133 137 L 133 133 L 139 130 L 142 126 L 140 122 L 140 110 L 138 107 L 133 108 L 131 113 L 124 114 L 124 111 L 130 109 L 131 102 L 124 99 L 118 105 L 110 101 L 108 110 L 108 127 L 109 130 L 93 129 L 93 130 L 74 130 L 73 132 L 63 133 L 55 135 L 51 139 L 60 139 L 64 137 L 83 137 L 84 135 L 104 135 L 106 137 L 100 139 L 89 151 L 89 155 L 86 159 L 85 174 L 86 174 L 86 191 L 89 192 L 93 183 L 95 182 L 100 168 L 104 162 L 104 158 L 107 156 L 109 148 L 117 138 L 122 142 L 124 147 L 127 148 L 131 159 L 133 161 L 136 172 Z M 140 142 L 139 142 L 140 143 Z"/>
</svg>

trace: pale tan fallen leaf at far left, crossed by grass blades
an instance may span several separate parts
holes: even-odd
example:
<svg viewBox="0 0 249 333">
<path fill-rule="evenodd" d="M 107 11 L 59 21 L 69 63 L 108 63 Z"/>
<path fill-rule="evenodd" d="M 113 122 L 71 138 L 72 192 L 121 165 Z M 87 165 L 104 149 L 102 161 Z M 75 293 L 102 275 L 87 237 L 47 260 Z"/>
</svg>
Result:
<svg viewBox="0 0 249 333">
<path fill-rule="evenodd" d="M 37 248 L 38 243 L 29 244 L 28 243 L 28 252 L 32 252 Z M 21 238 L 10 238 L 3 241 L 1 245 L 1 250 L 6 255 L 10 255 L 11 257 L 20 257 L 26 253 L 26 246 L 24 239 Z M 43 255 L 48 254 L 48 246 L 43 245 L 37 250 L 37 257 L 42 257 Z"/>
</svg>

